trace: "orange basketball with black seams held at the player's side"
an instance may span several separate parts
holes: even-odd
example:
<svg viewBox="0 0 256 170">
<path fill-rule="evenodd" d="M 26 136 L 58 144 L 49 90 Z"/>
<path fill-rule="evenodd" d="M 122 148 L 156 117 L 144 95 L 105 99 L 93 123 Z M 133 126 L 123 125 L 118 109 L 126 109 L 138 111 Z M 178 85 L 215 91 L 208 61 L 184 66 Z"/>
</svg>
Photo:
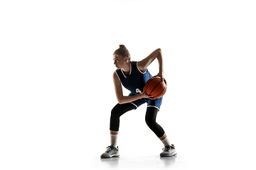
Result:
<svg viewBox="0 0 256 170">
<path fill-rule="evenodd" d="M 147 95 L 153 95 L 151 98 L 161 98 L 166 93 L 166 80 L 161 81 L 160 77 L 152 77 L 146 81 L 144 88 Z"/>
</svg>

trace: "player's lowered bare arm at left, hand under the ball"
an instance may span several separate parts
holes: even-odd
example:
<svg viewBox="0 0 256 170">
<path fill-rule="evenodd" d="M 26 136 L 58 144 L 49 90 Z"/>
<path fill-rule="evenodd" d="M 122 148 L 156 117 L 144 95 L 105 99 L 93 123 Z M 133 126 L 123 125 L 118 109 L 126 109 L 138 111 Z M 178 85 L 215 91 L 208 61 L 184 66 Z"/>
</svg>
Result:
<svg viewBox="0 0 256 170">
<path fill-rule="evenodd" d="M 142 92 L 142 94 L 138 94 L 135 96 L 124 96 L 122 92 L 122 84 L 119 81 L 116 72 L 113 73 L 113 81 L 114 81 L 114 91 L 117 96 L 117 101 L 119 104 L 123 103 L 129 103 L 132 101 L 136 101 L 139 98 L 150 98 L 149 95 L 145 93 L 145 91 Z"/>
</svg>

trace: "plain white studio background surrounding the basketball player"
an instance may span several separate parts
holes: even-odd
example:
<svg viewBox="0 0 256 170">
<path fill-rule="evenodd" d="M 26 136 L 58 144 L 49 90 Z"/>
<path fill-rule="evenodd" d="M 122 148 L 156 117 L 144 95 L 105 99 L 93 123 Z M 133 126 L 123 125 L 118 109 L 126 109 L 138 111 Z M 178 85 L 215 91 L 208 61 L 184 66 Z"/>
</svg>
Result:
<svg viewBox="0 0 256 170">
<path fill-rule="evenodd" d="M 123 44 L 132 60 L 163 52 L 168 90 L 157 121 L 178 152 L 171 168 L 255 169 L 255 7 L 228 0 L 1 1 L 0 168 L 106 166 L 100 154 L 110 145 L 117 103 L 112 53 Z M 157 67 L 149 66 L 151 74 Z M 119 148 L 128 158 L 134 151 L 158 156 L 163 147 L 145 111 L 122 115 Z"/>
</svg>

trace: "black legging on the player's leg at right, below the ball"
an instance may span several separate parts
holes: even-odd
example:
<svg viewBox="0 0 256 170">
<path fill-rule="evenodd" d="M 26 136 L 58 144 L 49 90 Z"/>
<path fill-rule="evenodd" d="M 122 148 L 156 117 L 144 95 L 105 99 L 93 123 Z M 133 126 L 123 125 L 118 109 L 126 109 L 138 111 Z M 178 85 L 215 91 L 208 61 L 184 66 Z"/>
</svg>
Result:
<svg viewBox="0 0 256 170">
<path fill-rule="evenodd" d="M 159 112 L 157 108 L 148 107 L 146 109 L 146 125 L 156 134 L 157 137 L 162 137 L 164 135 L 164 129 L 156 123 L 156 115 Z"/>
</svg>

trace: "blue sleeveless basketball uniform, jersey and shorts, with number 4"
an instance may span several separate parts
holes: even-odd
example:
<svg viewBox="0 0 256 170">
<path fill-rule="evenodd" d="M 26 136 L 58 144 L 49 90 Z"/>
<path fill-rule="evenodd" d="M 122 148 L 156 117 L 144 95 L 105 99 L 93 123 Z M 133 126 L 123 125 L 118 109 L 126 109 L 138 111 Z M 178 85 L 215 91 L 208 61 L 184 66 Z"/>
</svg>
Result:
<svg viewBox="0 0 256 170">
<path fill-rule="evenodd" d="M 124 75 L 122 69 L 116 69 L 115 71 L 117 73 L 117 77 L 121 81 L 121 84 L 126 89 L 131 91 L 129 96 L 142 94 L 146 81 L 148 81 L 152 77 L 148 69 L 146 69 L 144 73 L 140 71 L 137 63 L 138 62 L 131 62 L 131 69 L 127 77 Z M 141 106 L 143 103 L 147 103 L 148 107 L 156 107 L 160 109 L 162 99 L 163 97 L 157 98 L 156 100 L 150 98 L 140 98 L 137 101 L 132 101 L 131 103 L 134 104 L 134 106 L 136 107 Z"/>
</svg>

